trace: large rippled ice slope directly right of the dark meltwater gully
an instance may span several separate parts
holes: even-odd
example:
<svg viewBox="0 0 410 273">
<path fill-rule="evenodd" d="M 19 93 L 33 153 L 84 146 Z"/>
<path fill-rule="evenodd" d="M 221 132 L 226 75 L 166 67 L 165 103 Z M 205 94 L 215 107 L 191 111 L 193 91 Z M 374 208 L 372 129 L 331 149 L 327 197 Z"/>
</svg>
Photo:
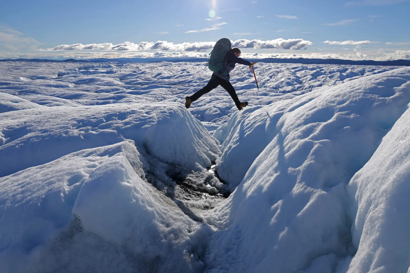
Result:
<svg viewBox="0 0 410 273">
<path fill-rule="evenodd" d="M 233 143 L 224 143 L 218 171 L 224 179 L 228 168 L 244 172 L 242 160 L 251 167 L 226 203 L 207 217 L 221 229 L 207 248 L 209 272 L 290 273 L 311 266 L 317 272 L 317 264 L 333 272 L 358 244 L 355 233 L 352 244 L 346 184 L 409 102 L 410 68 L 400 68 L 239 118 L 231 131 L 236 136 L 227 138 Z M 262 151 L 253 162 L 246 157 L 249 147 Z M 240 152 L 244 156 L 238 159 Z"/>
</svg>

